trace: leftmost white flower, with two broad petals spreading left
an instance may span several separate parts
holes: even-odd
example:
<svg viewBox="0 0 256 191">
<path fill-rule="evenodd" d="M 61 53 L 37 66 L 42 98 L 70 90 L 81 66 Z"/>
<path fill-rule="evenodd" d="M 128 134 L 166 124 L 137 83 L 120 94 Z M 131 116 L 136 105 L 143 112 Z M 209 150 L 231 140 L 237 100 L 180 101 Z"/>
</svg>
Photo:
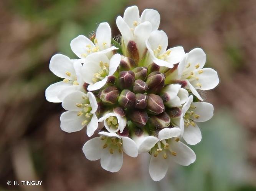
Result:
<svg viewBox="0 0 256 191">
<path fill-rule="evenodd" d="M 63 81 L 51 84 L 45 91 L 46 100 L 49 102 L 62 102 L 69 93 L 83 89 L 81 78 L 82 64 L 77 60 L 70 60 L 69 57 L 56 54 L 50 60 L 50 70 L 56 76 L 64 78 Z"/>
</svg>

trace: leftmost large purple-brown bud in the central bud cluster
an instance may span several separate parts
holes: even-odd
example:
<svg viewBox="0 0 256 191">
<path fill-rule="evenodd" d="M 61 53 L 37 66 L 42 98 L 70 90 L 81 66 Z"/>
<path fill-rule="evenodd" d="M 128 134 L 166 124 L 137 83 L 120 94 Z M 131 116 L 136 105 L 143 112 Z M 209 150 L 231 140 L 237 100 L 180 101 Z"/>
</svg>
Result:
<svg viewBox="0 0 256 191">
<path fill-rule="evenodd" d="M 106 104 L 115 104 L 119 97 L 119 91 L 115 86 L 108 86 L 99 93 L 99 98 Z"/>
</svg>

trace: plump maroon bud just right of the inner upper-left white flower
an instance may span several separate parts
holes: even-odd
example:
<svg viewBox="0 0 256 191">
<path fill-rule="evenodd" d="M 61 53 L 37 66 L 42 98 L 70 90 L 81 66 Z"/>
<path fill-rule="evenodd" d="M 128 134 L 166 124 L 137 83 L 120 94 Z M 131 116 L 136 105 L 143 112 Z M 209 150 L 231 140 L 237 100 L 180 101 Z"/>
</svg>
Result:
<svg viewBox="0 0 256 191">
<path fill-rule="evenodd" d="M 127 89 L 134 84 L 135 75 L 133 71 L 121 71 L 119 78 L 116 80 L 117 87 Z"/>
</svg>

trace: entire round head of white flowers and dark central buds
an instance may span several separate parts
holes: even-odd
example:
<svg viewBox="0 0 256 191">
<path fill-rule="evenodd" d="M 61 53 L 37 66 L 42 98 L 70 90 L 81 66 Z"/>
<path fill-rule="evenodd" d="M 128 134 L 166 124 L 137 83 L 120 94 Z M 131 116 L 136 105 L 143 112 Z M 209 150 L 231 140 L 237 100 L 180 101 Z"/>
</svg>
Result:
<svg viewBox="0 0 256 191">
<path fill-rule="evenodd" d="M 111 37 L 108 23 L 100 23 L 89 38 L 79 35 L 71 41 L 78 59 L 51 58 L 50 70 L 63 80 L 45 92 L 49 102 L 62 102 L 67 110 L 60 117 L 63 131 L 86 127 L 89 137 L 99 134 L 83 146 L 87 159 L 100 159 L 102 168 L 117 172 L 123 153 L 148 152 L 154 181 L 164 178 L 170 162 L 195 162 L 183 142 L 201 141 L 197 122 L 213 116 L 201 92 L 219 83 L 215 70 L 203 68 L 202 49 L 167 49 L 159 23 L 157 11 L 146 9 L 140 16 L 137 6 L 130 6 L 116 19 L 119 38 Z"/>
</svg>

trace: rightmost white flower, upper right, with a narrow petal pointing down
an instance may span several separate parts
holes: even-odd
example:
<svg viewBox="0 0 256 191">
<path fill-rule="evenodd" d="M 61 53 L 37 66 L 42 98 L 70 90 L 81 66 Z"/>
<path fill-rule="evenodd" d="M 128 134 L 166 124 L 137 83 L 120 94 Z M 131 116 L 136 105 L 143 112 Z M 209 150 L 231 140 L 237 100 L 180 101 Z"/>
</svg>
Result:
<svg viewBox="0 0 256 191">
<path fill-rule="evenodd" d="M 187 81 L 186 89 L 203 100 L 196 89 L 208 90 L 215 88 L 220 82 L 218 74 L 212 68 L 203 68 L 206 54 L 200 48 L 195 48 L 187 53 L 178 65 L 178 79 Z"/>
</svg>

